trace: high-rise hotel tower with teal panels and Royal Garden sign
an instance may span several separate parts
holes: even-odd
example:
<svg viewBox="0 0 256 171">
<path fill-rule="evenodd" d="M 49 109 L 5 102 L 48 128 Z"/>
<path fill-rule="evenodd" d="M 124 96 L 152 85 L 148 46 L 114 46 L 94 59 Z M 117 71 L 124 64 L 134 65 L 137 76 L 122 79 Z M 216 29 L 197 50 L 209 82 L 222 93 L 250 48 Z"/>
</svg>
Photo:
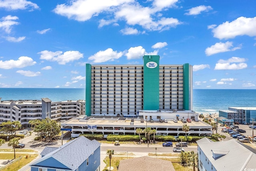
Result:
<svg viewBox="0 0 256 171">
<path fill-rule="evenodd" d="M 86 115 L 136 115 L 139 110 L 192 110 L 192 66 L 86 64 Z"/>
</svg>

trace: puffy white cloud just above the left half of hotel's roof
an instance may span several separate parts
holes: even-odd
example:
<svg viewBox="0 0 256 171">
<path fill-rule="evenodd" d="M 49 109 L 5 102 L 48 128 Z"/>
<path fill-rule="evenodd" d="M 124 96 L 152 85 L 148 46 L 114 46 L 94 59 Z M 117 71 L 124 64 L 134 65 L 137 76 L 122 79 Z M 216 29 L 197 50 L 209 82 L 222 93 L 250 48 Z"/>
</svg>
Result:
<svg viewBox="0 0 256 171">
<path fill-rule="evenodd" d="M 102 63 L 106 61 L 114 61 L 120 57 L 122 57 L 122 52 L 113 51 L 113 49 L 108 48 L 105 51 L 98 51 L 88 59 L 94 63 Z"/>
</svg>

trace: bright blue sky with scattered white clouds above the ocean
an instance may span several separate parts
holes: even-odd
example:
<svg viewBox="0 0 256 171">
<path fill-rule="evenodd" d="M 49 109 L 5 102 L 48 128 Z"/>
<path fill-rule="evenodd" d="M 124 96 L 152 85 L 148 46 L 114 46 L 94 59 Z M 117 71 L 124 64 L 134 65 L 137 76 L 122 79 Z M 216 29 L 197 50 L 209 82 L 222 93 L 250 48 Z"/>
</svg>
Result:
<svg viewBox="0 0 256 171">
<path fill-rule="evenodd" d="M 84 88 L 85 64 L 193 65 L 193 88 L 256 88 L 255 0 L 0 0 L 0 87 Z"/>
</svg>

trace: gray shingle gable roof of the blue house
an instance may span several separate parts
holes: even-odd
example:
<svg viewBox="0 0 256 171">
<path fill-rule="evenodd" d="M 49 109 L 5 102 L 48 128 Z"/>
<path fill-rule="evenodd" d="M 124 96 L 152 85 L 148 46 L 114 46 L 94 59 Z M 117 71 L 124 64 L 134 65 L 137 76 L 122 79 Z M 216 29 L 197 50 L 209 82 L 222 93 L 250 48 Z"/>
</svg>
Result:
<svg viewBox="0 0 256 171">
<path fill-rule="evenodd" d="M 84 136 L 80 136 L 58 149 L 48 153 L 40 160 L 36 161 L 32 165 L 40 163 L 44 159 L 53 157 L 60 163 L 66 165 L 68 168 L 75 170 L 77 169 L 94 151 L 100 147 L 100 143 L 96 140 L 89 140 Z"/>
</svg>

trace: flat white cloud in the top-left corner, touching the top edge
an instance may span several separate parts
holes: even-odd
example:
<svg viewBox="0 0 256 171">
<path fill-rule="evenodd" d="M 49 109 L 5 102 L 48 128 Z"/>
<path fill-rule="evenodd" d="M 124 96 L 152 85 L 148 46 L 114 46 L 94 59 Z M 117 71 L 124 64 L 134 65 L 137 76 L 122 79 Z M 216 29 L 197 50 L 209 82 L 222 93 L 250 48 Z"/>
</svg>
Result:
<svg viewBox="0 0 256 171">
<path fill-rule="evenodd" d="M 0 8 L 6 10 L 25 10 L 30 8 L 30 11 L 39 9 L 38 5 L 27 0 L 0 0 Z"/>
</svg>

